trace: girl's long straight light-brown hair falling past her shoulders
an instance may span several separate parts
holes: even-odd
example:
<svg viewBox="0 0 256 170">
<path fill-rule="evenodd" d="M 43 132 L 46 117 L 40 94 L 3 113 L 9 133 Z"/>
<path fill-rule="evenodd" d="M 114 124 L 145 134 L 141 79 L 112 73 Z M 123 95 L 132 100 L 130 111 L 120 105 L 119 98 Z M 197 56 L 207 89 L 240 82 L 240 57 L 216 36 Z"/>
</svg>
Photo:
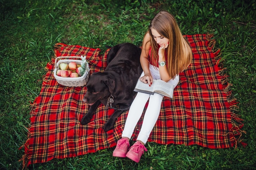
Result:
<svg viewBox="0 0 256 170">
<path fill-rule="evenodd" d="M 161 11 L 155 15 L 148 28 L 152 49 L 150 60 L 154 65 L 158 64 L 158 44 L 153 38 L 151 29 L 155 29 L 160 35 L 169 39 L 168 57 L 166 59 L 168 63 L 167 69 L 169 75 L 175 77 L 175 75 L 184 71 L 191 63 L 191 47 L 183 37 L 173 15 L 167 11 Z"/>
</svg>

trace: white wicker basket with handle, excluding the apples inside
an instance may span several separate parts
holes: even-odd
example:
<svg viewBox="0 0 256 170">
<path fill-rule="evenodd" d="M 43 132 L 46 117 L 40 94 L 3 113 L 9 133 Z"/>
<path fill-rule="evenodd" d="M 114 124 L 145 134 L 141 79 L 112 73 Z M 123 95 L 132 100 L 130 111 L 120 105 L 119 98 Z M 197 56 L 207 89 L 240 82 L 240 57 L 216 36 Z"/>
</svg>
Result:
<svg viewBox="0 0 256 170">
<path fill-rule="evenodd" d="M 68 87 L 79 87 L 79 86 L 85 86 L 85 84 L 87 83 L 88 79 L 89 79 L 89 73 L 90 73 L 90 68 L 89 68 L 89 64 L 87 64 L 87 67 L 89 68 L 88 71 L 85 71 L 85 73 L 80 76 L 80 77 L 61 77 L 56 75 L 57 70 L 59 70 L 59 65 L 61 63 L 67 63 L 69 64 L 70 62 L 76 62 L 76 64 L 80 64 L 82 60 L 59 60 L 57 62 L 58 59 L 60 58 L 80 58 L 78 56 L 63 56 L 63 57 L 56 57 L 55 59 L 55 68 L 54 68 L 54 77 L 57 80 L 57 82 L 63 86 L 68 86 Z"/>
</svg>

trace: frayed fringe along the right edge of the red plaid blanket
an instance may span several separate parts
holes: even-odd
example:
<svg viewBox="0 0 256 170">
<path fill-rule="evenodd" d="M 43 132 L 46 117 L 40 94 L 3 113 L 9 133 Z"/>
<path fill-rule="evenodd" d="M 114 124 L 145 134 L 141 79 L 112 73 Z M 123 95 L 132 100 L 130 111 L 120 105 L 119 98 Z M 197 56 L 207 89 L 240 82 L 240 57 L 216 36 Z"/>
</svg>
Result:
<svg viewBox="0 0 256 170">
<path fill-rule="evenodd" d="M 213 39 L 213 34 L 207 34 L 206 35 L 207 40 L 209 41 L 209 47 L 212 49 L 214 58 L 216 60 L 216 64 L 220 68 L 219 75 L 221 76 L 221 84 L 223 91 L 227 95 L 227 102 L 229 103 L 229 108 L 231 110 L 231 124 L 232 128 L 230 129 L 230 132 L 228 132 L 226 135 L 234 135 L 234 147 L 237 148 L 238 144 L 241 144 L 242 146 L 247 146 L 246 143 L 243 142 L 243 139 L 241 139 L 243 134 L 246 134 L 245 130 L 241 130 L 243 128 L 243 119 L 240 118 L 240 115 L 236 114 L 239 110 L 239 107 L 237 106 L 238 102 L 237 99 L 233 96 L 231 91 L 232 84 L 229 83 L 228 75 L 226 73 L 227 68 L 223 68 L 222 61 L 221 61 L 221 52 L 220 49 L 214 49 L 216 41 Z"/>
</svg>

